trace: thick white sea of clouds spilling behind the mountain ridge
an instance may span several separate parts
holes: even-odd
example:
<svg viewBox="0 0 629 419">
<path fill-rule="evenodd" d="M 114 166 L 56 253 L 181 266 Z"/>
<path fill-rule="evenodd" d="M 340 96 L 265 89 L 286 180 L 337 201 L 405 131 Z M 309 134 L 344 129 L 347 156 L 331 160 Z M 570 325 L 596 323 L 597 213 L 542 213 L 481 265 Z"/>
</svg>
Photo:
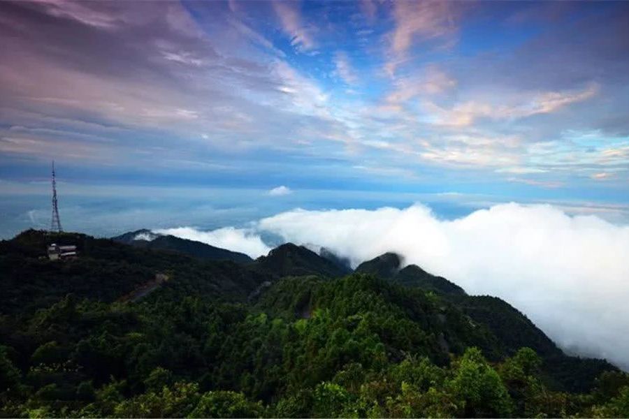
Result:
<svg viewBox="0 0 629 419">
<path fill-rule="evenodd" d="M 159 230 L 266 254 L 265 235 L 323 246 L 356 266 L 386 251 L 523 311 L 562 348 L 629 370 L 629 226 L 551 205 L 495 205 L 451 221 L 405 209 L 292 210 L 247 228 Z"/>
</svg>

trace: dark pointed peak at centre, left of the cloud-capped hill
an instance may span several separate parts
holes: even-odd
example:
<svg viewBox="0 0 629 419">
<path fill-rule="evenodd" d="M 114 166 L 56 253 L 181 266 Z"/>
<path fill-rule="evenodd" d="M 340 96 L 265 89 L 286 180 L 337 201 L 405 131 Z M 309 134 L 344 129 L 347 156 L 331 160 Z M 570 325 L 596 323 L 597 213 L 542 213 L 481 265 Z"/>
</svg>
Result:
<svg viewBox="0 0 629 419">
<path fill-rule="evenodd" d="M 293 243 L 282 244 L 271 250 L 267 256 L 260 256 L 256 259 L 255 266 L 258 270 L 277 277 L 323 275 L 335 278 L 351 272 L 348 267 Z"/>
</svg>

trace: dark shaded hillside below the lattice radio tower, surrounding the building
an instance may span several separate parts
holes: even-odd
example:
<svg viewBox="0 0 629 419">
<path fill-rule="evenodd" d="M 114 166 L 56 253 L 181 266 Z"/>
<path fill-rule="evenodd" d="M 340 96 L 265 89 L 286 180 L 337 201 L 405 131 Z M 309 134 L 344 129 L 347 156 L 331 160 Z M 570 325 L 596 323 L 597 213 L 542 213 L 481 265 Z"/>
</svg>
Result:
<svg viewBox="0 0 629 419">
<path fill-rule="evenodd" d="M 48 260 L 48 244 L 75 244 L 78 258 Z M 166 286 L 180 295 L 246 300 L 270 276 L 230 260 L 202 260 L 182 253 L 134 247 L 78 233 L 27 230 L 0 241 L 0 312 L 34 312 L 72 293 L 79 298 L 113 302 L 157 274 L 177 279 Z"/>
</svg>

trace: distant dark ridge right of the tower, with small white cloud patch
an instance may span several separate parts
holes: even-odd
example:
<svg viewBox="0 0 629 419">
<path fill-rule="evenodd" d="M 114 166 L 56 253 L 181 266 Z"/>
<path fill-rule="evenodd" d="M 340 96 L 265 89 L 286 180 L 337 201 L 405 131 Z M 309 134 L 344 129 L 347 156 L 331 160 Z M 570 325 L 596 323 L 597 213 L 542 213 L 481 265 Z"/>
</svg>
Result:
<svg viewBox="0 0 629 419">
<path fill-rule="evenodd" d="M 210 244 L 182 239 L 173 235 L 157 234 L 146 229 L 124 233 L 113 237 L 112 240 L 143 249 L 176 251 L 206 260 L 232 260 L 236 263 L 250 263 L 253 261 L 245 253 L 221 249 L 220 247 L 210 246 Z"/>
</svg>

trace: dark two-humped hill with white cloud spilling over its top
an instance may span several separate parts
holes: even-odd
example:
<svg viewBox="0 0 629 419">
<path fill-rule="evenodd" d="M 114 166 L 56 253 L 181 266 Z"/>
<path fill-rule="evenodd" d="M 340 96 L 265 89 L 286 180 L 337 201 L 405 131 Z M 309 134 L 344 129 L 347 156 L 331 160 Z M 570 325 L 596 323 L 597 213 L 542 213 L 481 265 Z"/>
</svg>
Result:
<svg viewBox="0 0 629 419">
<path fill-rule="evenodd" d="M 373 274 L 379 278 L 391 279 L 404 286 L 416 286 L 427 291 L 447 295 L 465 295 L 460 286 L 444 277 L 429 274 L 417 265 L 407 265 L 403 269 L 402 258 L 397 253 L 384 253 L 367 260 L 356 267 L 356 272 Z"/>
</svg>

